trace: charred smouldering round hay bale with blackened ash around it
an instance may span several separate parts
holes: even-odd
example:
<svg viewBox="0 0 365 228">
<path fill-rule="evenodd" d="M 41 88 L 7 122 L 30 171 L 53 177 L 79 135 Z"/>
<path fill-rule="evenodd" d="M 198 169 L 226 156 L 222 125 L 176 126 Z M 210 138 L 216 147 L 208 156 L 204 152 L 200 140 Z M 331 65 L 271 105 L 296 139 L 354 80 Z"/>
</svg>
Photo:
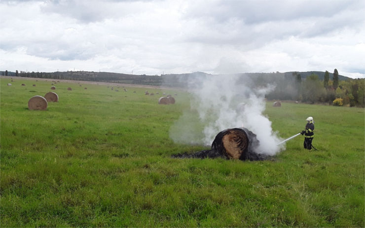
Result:
<svg viewBox="0 0 365 228">
<path fill-rule="evenodd" d="M 246 128 L 233 128 L 220 131 L 214 139 L 210 150 L 195 154 L 178 154 L 174 158 L 226 158 L 242 161 L 262 161 L 270 157 L 255 150 L 259 145 L 256 135 Z"/>
</svg>

